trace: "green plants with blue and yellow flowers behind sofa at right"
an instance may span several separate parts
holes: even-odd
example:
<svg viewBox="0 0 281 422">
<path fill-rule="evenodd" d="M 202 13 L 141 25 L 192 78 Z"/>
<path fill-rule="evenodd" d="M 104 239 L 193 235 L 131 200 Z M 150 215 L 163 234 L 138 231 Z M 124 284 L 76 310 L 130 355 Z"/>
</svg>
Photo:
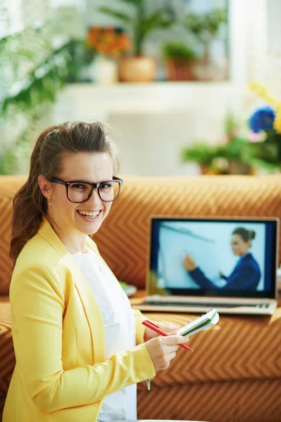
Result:
<svg viewBox="0 0 281 422">
<path fill-rule="evenodd" d="M 252 174 L 256 168 L 281 171 L 281 102 L 257 82 L 250 89 L 267 104 L 249 116 L 246 130 L 241 131 L 240 125 L 228 115 L 223 143 L 197 142 L 183 149 L 183 161 L 197 162 L 202 172 L 213 174 Z"/>
</svg>

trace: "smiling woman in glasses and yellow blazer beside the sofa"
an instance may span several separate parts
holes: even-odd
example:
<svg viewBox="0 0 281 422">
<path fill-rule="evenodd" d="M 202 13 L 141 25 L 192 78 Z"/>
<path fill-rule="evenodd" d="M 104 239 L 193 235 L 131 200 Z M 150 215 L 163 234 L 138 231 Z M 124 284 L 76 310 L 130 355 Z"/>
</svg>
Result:
<svg viewBox="0 0 281 422">
<path fill-rule="evenodd" d="M 170 335 L 156 337 L 141 324 L 88 236 L 119 196 L 116 170 L 98 122 L 54 126 L 37 140 L 14 198 L 16 364 L 4 422 L 134 419 L 136 383 L 167 368 L 188 342 L 175 326 L 159 324 Z"/>
</svg>

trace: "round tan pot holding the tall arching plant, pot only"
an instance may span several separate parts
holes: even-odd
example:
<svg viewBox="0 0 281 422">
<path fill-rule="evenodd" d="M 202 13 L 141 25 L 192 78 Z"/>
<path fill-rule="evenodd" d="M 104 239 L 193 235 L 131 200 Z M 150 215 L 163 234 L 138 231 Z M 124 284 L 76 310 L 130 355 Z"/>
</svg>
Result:
<svg viewBox="0 0 281 422">
<path fill-rule="evenodd" d="M 122 82 L 152 82 L 156 69 L 156 61 L 152 57 L 133 56 L 119 59 L 119 79 Z"/>
</svg>

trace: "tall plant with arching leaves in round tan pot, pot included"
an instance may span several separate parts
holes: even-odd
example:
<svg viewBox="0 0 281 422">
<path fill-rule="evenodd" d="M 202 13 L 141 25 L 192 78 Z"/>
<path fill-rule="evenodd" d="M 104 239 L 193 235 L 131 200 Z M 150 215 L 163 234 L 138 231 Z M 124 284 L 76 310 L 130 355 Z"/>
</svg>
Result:
<svg viewBox="0 0 281 422">
<path fill-rule="evenodd" d="M 153 30 L 169 27 L 174 23 L 166 16 L 164 8 L 147 13 L 145 0 L 119 0 L 130 5 L 132 13 L 116 11 L 102 6 L 98 10 L 116 18 L 128 28 L 132 34 L 133 55 L 119 60 L 119 77 L 124 82 L 151 82 L 155 79 L 157 64 L 155 58 L 145 56 L 144 41 Z"/>
</svg>

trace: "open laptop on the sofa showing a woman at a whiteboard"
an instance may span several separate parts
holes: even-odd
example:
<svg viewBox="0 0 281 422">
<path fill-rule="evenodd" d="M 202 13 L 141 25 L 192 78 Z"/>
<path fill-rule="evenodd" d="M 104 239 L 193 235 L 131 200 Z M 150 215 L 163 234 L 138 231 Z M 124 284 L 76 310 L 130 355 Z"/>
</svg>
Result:
<svg viewBox="0 0 281 422">
<path fill-rule="evenodd" d="M 150 219 L 142 311 L 273 314 L 279 219 Z"/>
</svg>

